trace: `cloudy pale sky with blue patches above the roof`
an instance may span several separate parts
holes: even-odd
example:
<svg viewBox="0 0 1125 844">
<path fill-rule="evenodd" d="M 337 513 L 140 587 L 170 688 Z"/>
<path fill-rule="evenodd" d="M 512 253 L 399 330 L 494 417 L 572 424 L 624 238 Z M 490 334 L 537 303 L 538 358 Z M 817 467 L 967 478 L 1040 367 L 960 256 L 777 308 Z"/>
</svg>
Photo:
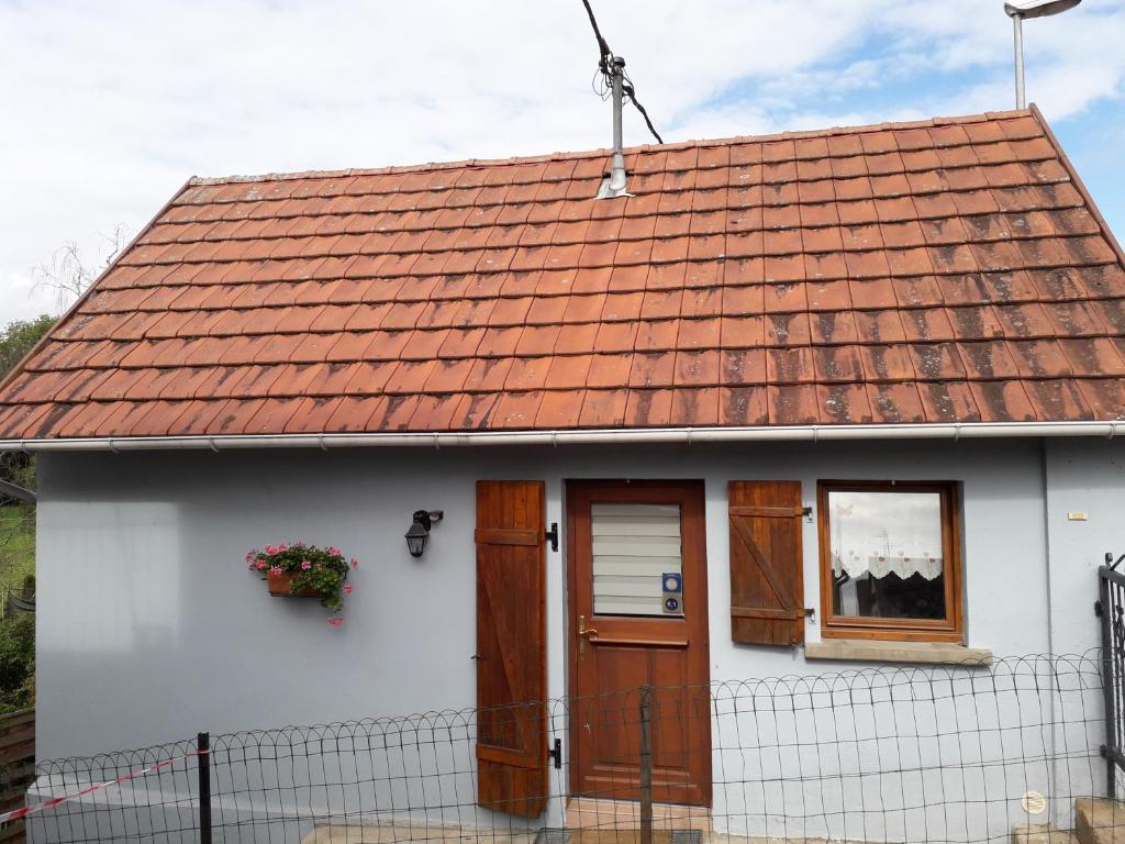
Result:
<svg viewBox="0 0 1125 844">
<path fill-rule="evenodd" d="M 665 141 L 1011 108 L 1002 0 L 593 0 Z M 1125 233 L 1125 0 L 1025 25 L 1038 104 Z M 580 0 L 0 0 L 0 326 L 57 313 L 191 176 L 604 147 Z M 627 144 L 648 143 L 630 111 Z"/>
</svg>

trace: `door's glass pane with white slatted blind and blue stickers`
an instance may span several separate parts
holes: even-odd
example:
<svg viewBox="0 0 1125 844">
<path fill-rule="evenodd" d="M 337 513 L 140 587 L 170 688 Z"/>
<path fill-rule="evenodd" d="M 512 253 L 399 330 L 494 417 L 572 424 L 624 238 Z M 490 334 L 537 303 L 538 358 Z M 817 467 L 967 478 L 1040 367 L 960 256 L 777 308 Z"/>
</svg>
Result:
<svg viewBox="0 0 1125 844">
<path fill-rule="evenodd" d="M 595 614 L 683 616 L 678 505 L 592 504 L 590 524 Z"/>
</svg>

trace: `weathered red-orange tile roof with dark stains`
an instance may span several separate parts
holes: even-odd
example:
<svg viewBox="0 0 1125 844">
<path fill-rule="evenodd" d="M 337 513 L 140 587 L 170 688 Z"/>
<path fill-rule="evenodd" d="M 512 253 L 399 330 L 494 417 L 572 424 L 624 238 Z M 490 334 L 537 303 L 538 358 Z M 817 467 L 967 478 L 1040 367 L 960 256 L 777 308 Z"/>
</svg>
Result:
<svg viewBox="0 0 1125 844">
<path fill-rule="evenodd" d="M 191 180 L 0 440 L 1117 420 L 1123 254 L 1040 114 Z"/>
</svg>

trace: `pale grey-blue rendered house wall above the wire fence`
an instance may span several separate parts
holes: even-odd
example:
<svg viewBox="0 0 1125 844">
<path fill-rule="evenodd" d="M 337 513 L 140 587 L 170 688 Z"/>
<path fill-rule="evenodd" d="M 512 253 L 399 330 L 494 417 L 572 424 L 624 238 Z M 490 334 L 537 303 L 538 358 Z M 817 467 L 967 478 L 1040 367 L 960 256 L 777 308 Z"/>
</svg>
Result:
<svg viewBox="0 0 1125 844">
<path fill-rule="evenodd" d="M 1095 464 L 1099 454 L 1082 452 Z M 1078 556 L 1090 556 L 1081 536 L 1063 539 L 1055 530 L 1056 500 L 1071 493 L 1065 485 L 1047 491 L 1045 468 L 1062 477 L 1053 467 L 1065 459 L 1048 451 L 1045 460 L 1043 443 L 1033 440 L 45 454 L 37 753 L 84 755 L 199 730 L 472 706 L 479 478 L 546 481 L 548 524 L 558 522 L 564 531 L 559 551 L 547 551 L 552 698 L 567 691 L 566 478 L 705 481 L 713 681 L 861 667 L 807 661 L 800 648 L 731 643 L 729 479 L 799 478 L 813 506 L 818 478 L 958 481 L 966 644 L 998 656 L 1045 654 L 1053 636 L 1056 653 L 1082 649 L 1097 637 L 1087 611 L 1096 592 L 1092 573 L 1073 578 L 1074 587 L 1055 599 L 1053 625 L 1046 623 L 1048 577 L 1062 576 L 1060 564 L 1047 566 L 1048 522 L 1053 551 L 1070 558 L 1081 547 Z M 1082 472 L 1073 466 L 1071 486 Z M 1106 483 L 1122 494 L 1119 475 Z M 444 510 L 446 518 L 425 556 L 414 560 L 402 536 L 420 508 Z M 250 548 L 295 540 L 335 545 L 361 560 L 350 578 L 356 591 L 345 600 L 343 627 L 325 623 L 327 613 L 315 601 L 268 598 L 246 571 Z M 820 618 L 816 514 L 803 540 L 806 601 L 817 609 L 807 629 L 811 641 L 819 638 Z M 1100 551 L 1098 546 L 1094 556 Z M 1074 565 L 1086 572 L 1086 563 Z M 951 671 L 968 676 L 971 670 Z M 932 716 L 940 717 L 937 710 Z M 717 754 L 717 775 L 721 762 Z M 747 810 L 722 790 L 714 799 L 717 814 Z"/>
</svg>

